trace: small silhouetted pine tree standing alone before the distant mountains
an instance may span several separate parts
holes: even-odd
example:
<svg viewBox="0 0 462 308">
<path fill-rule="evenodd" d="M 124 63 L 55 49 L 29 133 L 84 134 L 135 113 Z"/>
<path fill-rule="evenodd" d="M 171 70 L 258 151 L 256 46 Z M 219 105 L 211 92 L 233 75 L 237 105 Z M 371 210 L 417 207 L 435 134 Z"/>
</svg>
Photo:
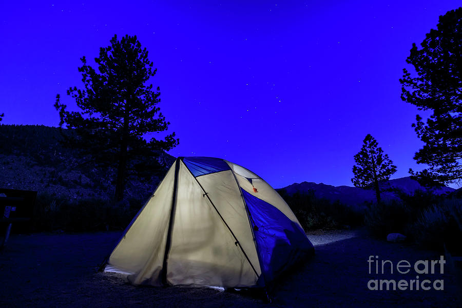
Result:
<svg viewBox="0 0 462 308">
<path fill-rule="evenodd" d="M 377 203 L 380 203 L 380 184 L 390 179 L 396 172 L 396 166 L 387 154 L 383 155 L 382 148 L 371 134 L 364 138 L 361 150 L 354 157 L 353 185 L 364 189 L 374 188 Z"/>
</svg>

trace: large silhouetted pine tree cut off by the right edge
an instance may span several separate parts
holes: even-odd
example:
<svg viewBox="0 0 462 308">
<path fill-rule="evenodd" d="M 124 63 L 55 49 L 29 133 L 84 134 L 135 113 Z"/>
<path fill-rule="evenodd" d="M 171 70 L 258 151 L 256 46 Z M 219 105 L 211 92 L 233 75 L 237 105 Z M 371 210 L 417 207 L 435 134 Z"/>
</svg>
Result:
<svg viewBox="0 0 462 308">
<path fill-rule="evenodd" d="M 462 7 L 439 17 L 417 49 L 416 44 L 406 62 L 417 76 L 403 69 L 401 99 L 419 110 L 431 110 L 427 121 L 416 116 L 412 124 L 425 143 L 414 156 L 417 163 L 429 165 L 425 174 L 443 183 L 462 179 Z"/>
</svg>

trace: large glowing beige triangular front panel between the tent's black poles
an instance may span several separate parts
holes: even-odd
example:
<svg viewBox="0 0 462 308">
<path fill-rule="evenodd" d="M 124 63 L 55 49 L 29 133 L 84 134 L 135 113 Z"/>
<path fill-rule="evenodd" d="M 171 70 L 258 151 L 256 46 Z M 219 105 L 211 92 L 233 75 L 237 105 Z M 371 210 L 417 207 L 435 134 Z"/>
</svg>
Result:
<svg viewBox="0 0 462 308">
<path fill-rule="evenodd" d="M 222 287 L 254 285 L 256 273 L 183 163 L 178 181 L 167 282 Z"/>
</svg>

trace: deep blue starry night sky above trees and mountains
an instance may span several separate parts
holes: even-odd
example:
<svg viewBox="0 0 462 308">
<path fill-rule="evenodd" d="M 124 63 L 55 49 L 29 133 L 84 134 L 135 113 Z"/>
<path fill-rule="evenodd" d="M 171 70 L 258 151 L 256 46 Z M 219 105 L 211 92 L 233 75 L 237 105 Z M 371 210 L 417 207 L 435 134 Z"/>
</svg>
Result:
<svg viewBox="0 0 462 308">
<path fill-rule="evenodd" d="M 422 143 L 400 99 L 412 43 L 460 1 L 62 1 L 0 4 L 4 124 L 57 126 L 91 60 L 117 34 L 137 35 L 158 68 L 173 156 L 220 157 L 274 187 L 352 185 L 371 133 L 408 176 Z M 70 4 L 71 3 L 71 4 Z M 419 112 L 422 114 L 422 112 Z"/>
</svg>

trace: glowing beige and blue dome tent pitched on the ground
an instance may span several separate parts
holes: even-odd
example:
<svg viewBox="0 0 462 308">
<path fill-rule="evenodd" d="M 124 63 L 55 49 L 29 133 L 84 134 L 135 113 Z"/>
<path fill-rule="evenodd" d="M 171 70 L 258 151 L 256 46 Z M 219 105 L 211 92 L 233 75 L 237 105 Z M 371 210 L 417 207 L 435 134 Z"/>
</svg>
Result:
<svg viewBox="0 0 462 308">
<path fill-rule="evenodd" d="M 104 269 L 136 285 L 266 288 L 313 253 L 292 210 L 259 176 L 223 159 L 184 157 Z"/>
</svg>

